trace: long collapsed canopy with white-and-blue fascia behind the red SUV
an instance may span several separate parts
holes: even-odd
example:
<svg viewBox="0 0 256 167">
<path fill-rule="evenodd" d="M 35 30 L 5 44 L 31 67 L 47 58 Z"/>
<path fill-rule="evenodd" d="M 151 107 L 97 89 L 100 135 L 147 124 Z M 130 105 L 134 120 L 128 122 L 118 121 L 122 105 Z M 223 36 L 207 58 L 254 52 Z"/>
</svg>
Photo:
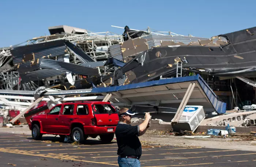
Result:
<svg viewBox="0 0 256 167">
<path fill-rule="evenodd" d="M 95 96 L 113 94 L 110 102 L 115 106 L 158 106 L 160 112 L 177 110 L 190 83 L 196 86 L 187 105 L 203 106 L 205 112 L 226 112 L 226 103 L 221 102 L 200 75 L 177 77 L 147 81 L 143 83 L 127 84 L 124 86 L 103 87 L 82 90 L 53 91 L 44 95 L 87 95 Z M 33 91 L 0 90 L 0 94 L 32 95 Z"/>
</svg>

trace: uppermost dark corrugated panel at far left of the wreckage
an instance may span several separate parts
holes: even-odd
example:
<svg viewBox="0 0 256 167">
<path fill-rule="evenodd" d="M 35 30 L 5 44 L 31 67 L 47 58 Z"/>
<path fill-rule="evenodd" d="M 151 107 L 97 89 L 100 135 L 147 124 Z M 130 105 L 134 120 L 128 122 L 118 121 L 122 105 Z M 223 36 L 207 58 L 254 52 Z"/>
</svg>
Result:
<svg viewBox="0 0 256 167">
<path fill-rule="evenodd" d="M 39 44 L 31 44 L 20 47 L 15 47 L 11 50 L 12 56 L 14 56 L 14 64 L 22 63 L 24 55 L 34 53 L 35 59 L 42 56 L 54 57 L 65 54 L 65 41 L 57 40 Z"/>
</svg>

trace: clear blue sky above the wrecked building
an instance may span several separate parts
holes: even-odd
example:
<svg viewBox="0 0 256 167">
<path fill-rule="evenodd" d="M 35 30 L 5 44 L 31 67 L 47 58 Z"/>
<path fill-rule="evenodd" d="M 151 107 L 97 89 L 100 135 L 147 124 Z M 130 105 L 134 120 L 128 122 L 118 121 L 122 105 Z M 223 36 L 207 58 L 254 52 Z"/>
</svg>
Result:
<svg viewBox="0 0 256 167">
<path fill-rule="evenodd" d="M 0 47 L 49 35 L 48 27 L 69 25 L 93 32 L 123 29 L 172 31 L 211 37 L 255 27 L 256 1 L 238 0 L 1 0 Z"/>
</svg>

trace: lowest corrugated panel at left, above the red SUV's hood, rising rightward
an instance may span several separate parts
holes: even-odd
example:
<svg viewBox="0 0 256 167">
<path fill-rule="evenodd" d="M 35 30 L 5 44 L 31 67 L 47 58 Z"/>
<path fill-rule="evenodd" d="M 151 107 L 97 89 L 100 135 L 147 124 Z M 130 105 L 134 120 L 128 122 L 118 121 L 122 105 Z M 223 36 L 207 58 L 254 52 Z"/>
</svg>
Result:
<svg viewBox="0 0 256 167">
<path fill-rule="evenodd" d="M 56 69 L 41 69 L 38 71 L 28 72 L 28 73 L 21 73 L 20 77 L 23 83 L 35 80 L 42 80 L 47 77 L 52 77 L 56 75 L 65 74 L 66 72 L 56 70 Z"/>
</svg>

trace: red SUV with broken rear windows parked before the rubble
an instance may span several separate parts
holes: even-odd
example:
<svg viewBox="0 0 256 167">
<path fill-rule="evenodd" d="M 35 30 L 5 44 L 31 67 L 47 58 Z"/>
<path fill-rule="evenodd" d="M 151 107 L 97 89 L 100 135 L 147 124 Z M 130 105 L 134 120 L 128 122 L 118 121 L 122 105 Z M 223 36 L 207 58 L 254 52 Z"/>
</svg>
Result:
<svg viewBox="0 0 256 167">
<path fill-rule="evenodd" d="M 98 135 L 103 142 L 111 142 L 119 121 L 116 108 L 108 102 L 71 102 L 54 106 L 44 115 L 31 118 L 29 128 L 35 140 L 43 134 L 71 136 L 75 142 Z"/>
</svg>

